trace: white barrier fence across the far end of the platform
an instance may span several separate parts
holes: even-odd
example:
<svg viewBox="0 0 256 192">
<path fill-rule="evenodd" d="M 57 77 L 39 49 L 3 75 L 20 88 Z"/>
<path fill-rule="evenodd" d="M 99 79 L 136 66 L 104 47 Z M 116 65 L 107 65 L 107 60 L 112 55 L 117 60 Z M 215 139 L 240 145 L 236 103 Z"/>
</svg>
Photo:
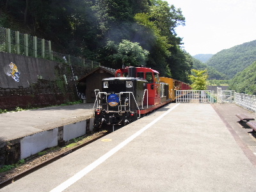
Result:
<svg viewBox="0 0 256 192">
<path fill-rule="evenodd" d="M 212 103 L 214 93 L 211 90 L 176 90 L 176 102 Z"/>
</svg>

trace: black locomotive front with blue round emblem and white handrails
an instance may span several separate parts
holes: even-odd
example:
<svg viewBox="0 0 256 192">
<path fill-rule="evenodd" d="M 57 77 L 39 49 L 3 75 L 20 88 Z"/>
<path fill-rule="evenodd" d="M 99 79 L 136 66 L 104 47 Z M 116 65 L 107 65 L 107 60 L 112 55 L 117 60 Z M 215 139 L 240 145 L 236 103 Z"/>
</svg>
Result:
<svg viewBox="0 0 256 192">
<path fill-rule="evenodd" d="M 147 102 L 147 81 L 134 77 L 102 79 L 102 92 L 96 93 L 94 127 L 102 124 L 129 124 L 140 117 Z"/>
</svg>

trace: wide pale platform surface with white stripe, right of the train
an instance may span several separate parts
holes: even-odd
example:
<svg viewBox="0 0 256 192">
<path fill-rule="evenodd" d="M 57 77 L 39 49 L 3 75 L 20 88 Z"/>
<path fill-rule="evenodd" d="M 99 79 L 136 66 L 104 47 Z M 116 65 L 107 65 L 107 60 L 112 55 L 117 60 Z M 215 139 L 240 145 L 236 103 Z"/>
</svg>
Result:
<svg viewBox="0 0 256 192">
<path fill-rule="evenodd" d="M 170 104 L 0 191 L 256 191 L 256 141 L 239 110 Z"/>
</svg>

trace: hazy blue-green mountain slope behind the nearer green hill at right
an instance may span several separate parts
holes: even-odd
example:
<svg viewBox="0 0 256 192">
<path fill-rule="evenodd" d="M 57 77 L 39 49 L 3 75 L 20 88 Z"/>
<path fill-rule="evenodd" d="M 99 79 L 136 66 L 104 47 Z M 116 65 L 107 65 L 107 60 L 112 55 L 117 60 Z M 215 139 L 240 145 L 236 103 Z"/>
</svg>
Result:
<svg viewBox="0 0 256 192">
<path fill-rule="evenodd" d="M 256 40 L 214 54 L 207 61 L 207 65 L 232 78 L 237 72 L 241 72 L 251 65 L 253 61 L 256 61 Z"/>
</svg>

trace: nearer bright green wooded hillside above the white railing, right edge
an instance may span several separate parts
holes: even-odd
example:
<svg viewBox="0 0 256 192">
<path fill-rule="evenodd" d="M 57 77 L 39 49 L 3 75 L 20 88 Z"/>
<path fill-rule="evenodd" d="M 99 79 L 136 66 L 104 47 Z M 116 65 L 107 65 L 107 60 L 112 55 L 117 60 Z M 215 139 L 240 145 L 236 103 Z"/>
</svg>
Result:
<svg viewBox="0 0 256 192">
<path fill-rule="evenodd" d="M 236 90 L 238 93 L 256 95 L 256 61 L 236 74 L 229 86 L 230 90 Z"/>
</svg>

